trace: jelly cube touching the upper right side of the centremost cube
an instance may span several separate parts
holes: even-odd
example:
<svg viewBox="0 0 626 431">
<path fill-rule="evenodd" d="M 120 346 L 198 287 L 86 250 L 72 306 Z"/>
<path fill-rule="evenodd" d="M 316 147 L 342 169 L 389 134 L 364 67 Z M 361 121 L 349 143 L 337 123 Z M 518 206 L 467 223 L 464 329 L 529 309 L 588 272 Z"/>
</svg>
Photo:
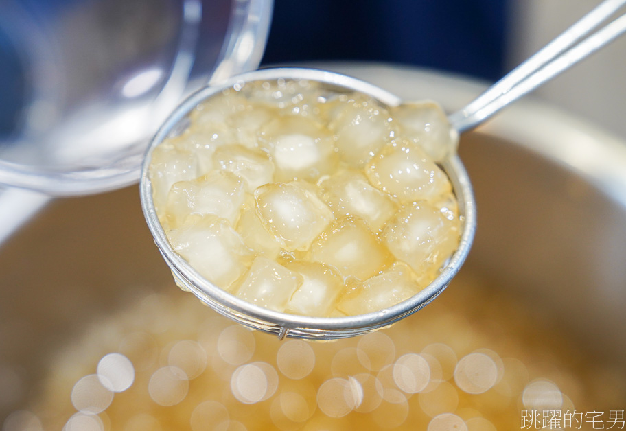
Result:
<svg viewBox="0 0 626 431">
<path fill-rule="evenodd" d="M 360 172 L 349 170 L 336 174 L 325 180 L 321 187 L 336 218 L 358 215 L 374 232 L 397 211 L 397 205 L 389 195 L 373 187 Z"/>
</svg>

